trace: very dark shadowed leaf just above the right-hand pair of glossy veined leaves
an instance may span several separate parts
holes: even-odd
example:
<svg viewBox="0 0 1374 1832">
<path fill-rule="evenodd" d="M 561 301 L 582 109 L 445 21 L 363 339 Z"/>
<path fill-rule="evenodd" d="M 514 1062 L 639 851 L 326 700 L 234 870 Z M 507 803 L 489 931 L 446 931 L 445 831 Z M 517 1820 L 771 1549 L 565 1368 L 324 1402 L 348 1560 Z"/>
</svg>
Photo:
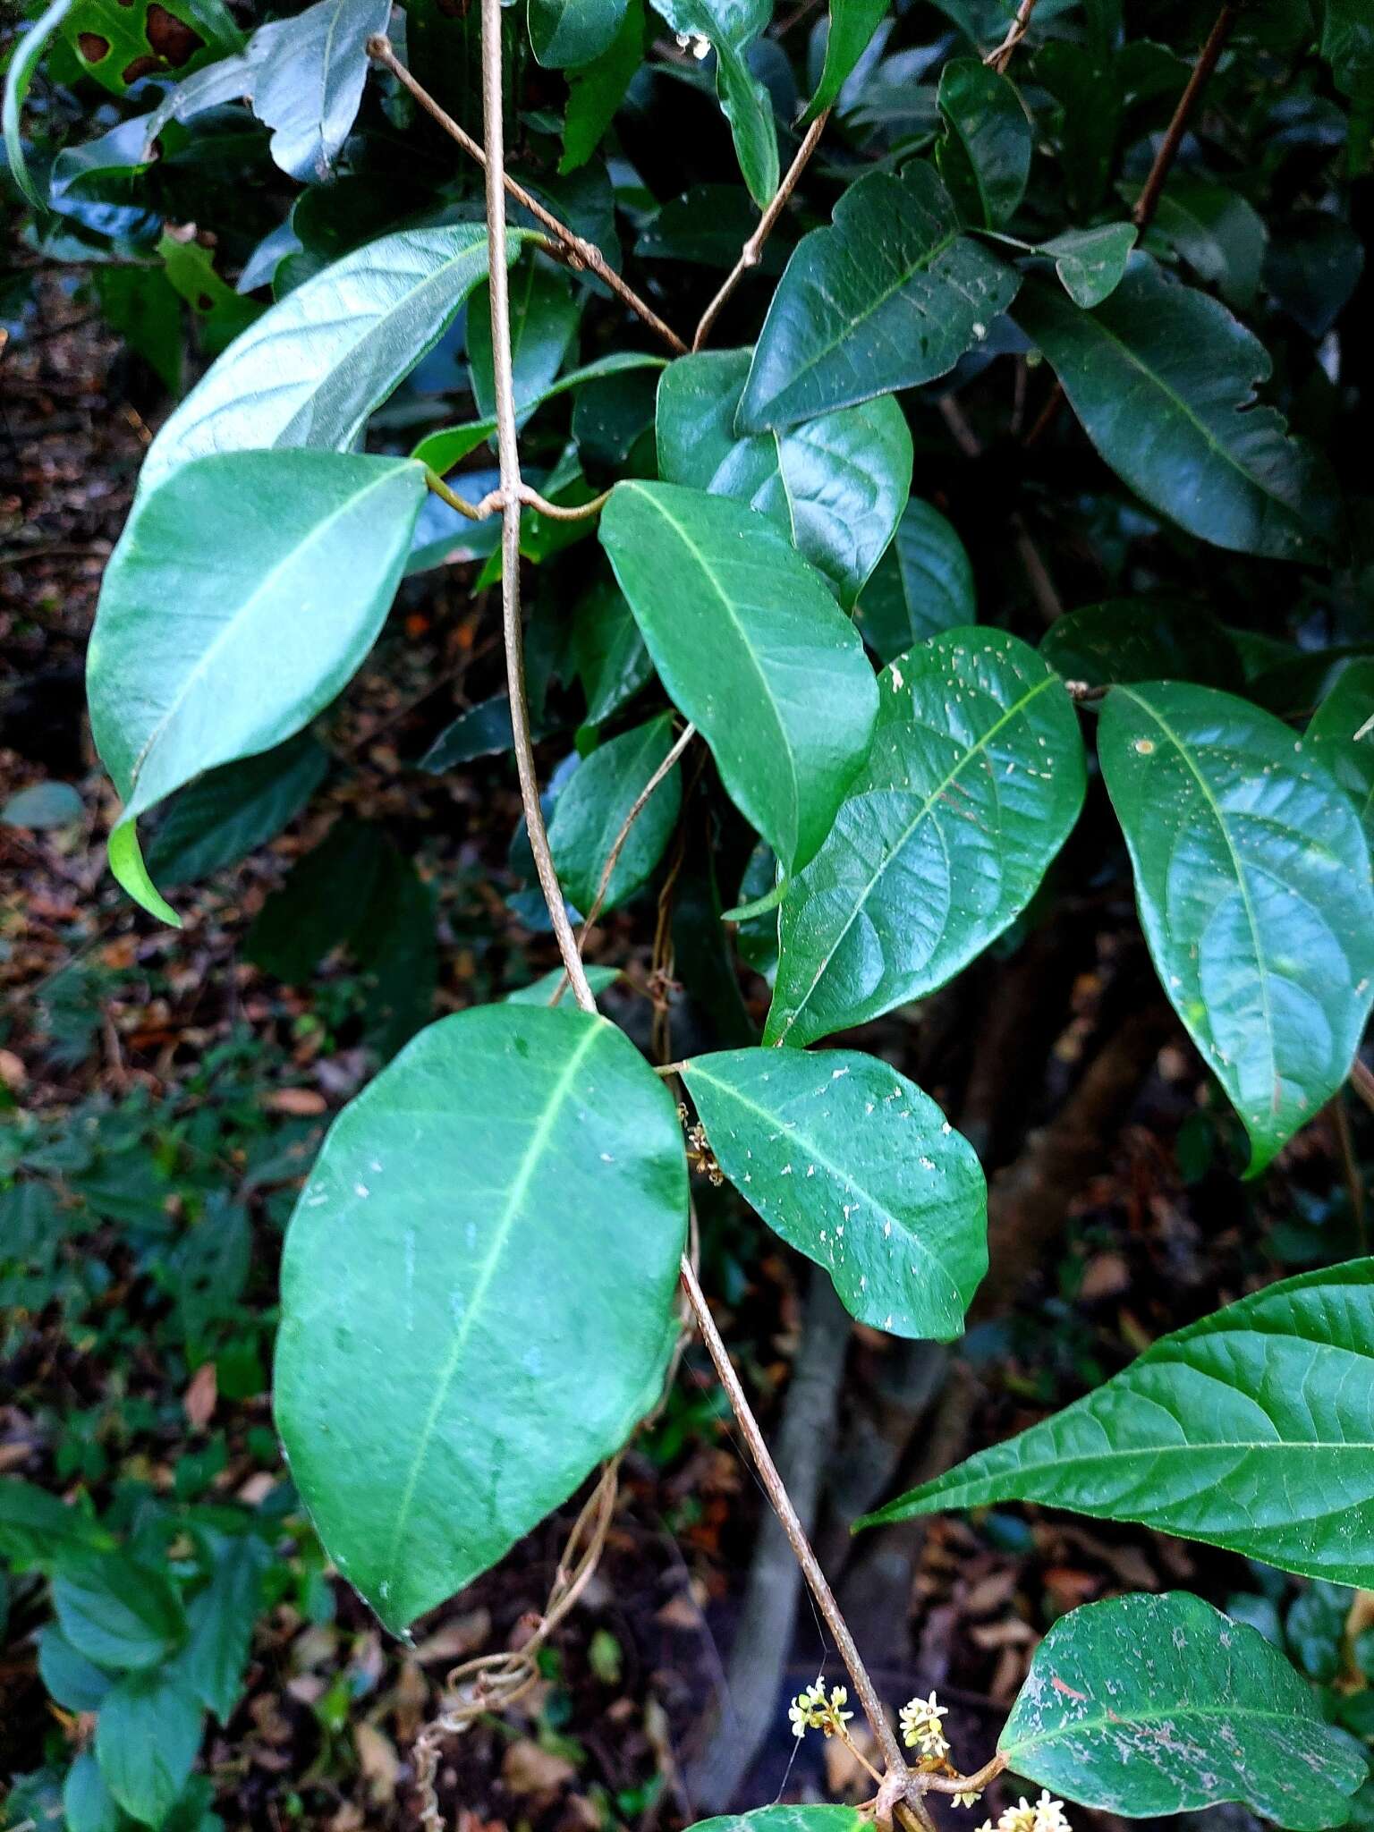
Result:
<svg viewBox="0 0 1374 1832">
<path fill-rule="evenodd" d="M 1088 687 L 1160 680 L 1242 685 L 1240 656 L 1216 617 L 1202 605 L 1167 597 L 1110 597 L 1068 610 L 1041 638 L 1041 654 L 1063 680 Z"/>
</svg>

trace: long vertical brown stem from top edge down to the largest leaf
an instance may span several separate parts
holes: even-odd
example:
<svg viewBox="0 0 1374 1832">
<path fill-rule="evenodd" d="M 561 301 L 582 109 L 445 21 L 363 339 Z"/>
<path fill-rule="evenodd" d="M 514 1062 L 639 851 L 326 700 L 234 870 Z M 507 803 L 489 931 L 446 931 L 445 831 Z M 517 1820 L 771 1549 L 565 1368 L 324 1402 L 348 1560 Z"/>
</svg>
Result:
<svg viewBox="0 0 1374 1832">
<path fill-rule="evenodd" d="M 487 247 L 491 297 L 491 374 L 496 396 L 496 451 L 500 456 L 502 531 L 500 531 L 500 619 L 506 638 L 506 682 L 511 696 L 511 736 L 515 738 L 515 768 L 520 777 L 520 801 L 529 830 L 529 850 L 535 872 L 548 903 L 553 934 L 562 964 L 572 980 L 573 997 L 583 1011 L 595 1011 L 597 1002 L 583 971 L 568 909 L 553 870 L 553 856 L 544 828 L 544 810 L 539 806 L 539 777 L 535 775 L 535 747 L 529 738 L 529 705 L 524 694 L 524 625 L 520 623 L 520 451 L 515 427 L 515 387 L 511 381 L 511 302 L 506 271 L 506 147 L 502 126 L 502 59 L 500 59 L 500 0 L 482 0 L 482 126 L 487 139 Z"/>
</svg>

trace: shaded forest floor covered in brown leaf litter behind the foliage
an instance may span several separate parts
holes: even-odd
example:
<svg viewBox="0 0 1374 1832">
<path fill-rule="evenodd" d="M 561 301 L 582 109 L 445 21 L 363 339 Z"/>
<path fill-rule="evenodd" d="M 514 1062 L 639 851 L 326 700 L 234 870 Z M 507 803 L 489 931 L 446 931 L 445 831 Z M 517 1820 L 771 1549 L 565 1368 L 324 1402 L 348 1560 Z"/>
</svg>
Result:
<svg viewBox="0 0 1374 1832">
<path fill-rule="evenodd" d="M 134 1108 L 152 1154 L 159 1141 L 189 1138 L 213 1110 L 220 1132 L 211 1149 L 242 1189 L 244 1165 L 280 1145 L 288 1158 L 244 1196 L 255 1259 L 240 1297 L 253 1315 L 242 1332 L 266 1341 L 282 1198 L 289 1205 L 328 1116 L 370 1066 L 346 960 L 332 958 L 317 984 L 291 987 L 238 953 L 291 859 L 341 808 L 414 839 L 438 896 L 436 1011 L 498 997 L 546 971 L 553 954 L 504 901 L 518 813 L 509 760 L 484 758 L 449 779 L 418 777 L 405 762 L 456 707 L 491 691 L 498 671 L 491 608 L 443 575 L 407 588 L 396 634 L 332 731 L 350 769 L 302 821 L 247 865 L 183 889 L 180 932 L 154 925 L 115 890 L 103 861 L 114 802 L 84 725 L 81 671 L 101 570 L 148 440 L 137 381 L 84 308 L 55 289 L 44 295 L 40 322 L 0 352 L 9 478 L 0 495 L 0 802 L 55 779 L 73 784 L 82 804 L 81 819 L 59 828 L 0 828 L 0 1081 L 11 1118 L 27 1116 L 53 1136 L 81 1116 Z M 614 1009 L 636 1031 L 643 929 L 628 912 L 599 940 L 603 958 L 628 969 L 630 991 Z M 989 1086 L 1026 1083 L 1019 1114 L 1008 1118 L 995 1103 L 984 1112 L 989 1132 L 1006 1132 L 995 1150 L 1004 1178 L 1020 1174 L 1026 1152 L 1053 1134 L 1072 1090 L 1083 1088 L 1085 1064 L 1107 1061 L 1107 1033 L 1140 1017 L 1119 969 L 1134 945 L 1121 940 L 1127 931 L 1129 912 L 1112 911 L 1086 936 L 1063 975 L 1063 1009 L 1039 1020 L 1044 1050 L 1022 1059 L 1006 1031 L 993 1046 L 1002 1053 Z M 998 997 L 1013 997 L 1006 987 L 1015 986 L 1015 962 L 997 971 Z M 1118 997 L 1125 987 L 1127 1009 L 1105 1004 L 1114 987 Z M 991 997 L 991 986 L 982 991 Z M 865 1042 L 916 1074 L 931 1022 L 898 1017 L 870 1028 Z M 1246 1194 L 1213 1167 L 1227 1141 L 1180 1037 L 1161 1026 L 1136 1044 L 1138 1072 L 1101 1107 L 1099 1132 L 1079 1140 L 1057 1169 L 1039 1167 L 1042 1178 L 1068 1183 L 1055 1191 L 1048 1222 L 1037 1211 L 1039 1233 L 1019 1246 L 1015 1288 L 978 1323 L 967 1363 L 953 1376 L 927 1348 L 848 1325 L 837 1336 L 824 1295 L 808 1303 L 804 1266 L 760 1238 L 738 1205 L 702 1191 L 707 1290 L 769 1433 L 780 1429 L 793 1365 L 810 1343 L 793 1436 L 828 1447 L 813 1456 L 817 1544 L 876 1678 L 894 1706 L 934 1687 L 953 1707 L 954 1753 L 965 1768 L 991 1753 L 1030 1654 L 1063 1610 L 1123 1588 L 1187 1585 L 1218 1603 L 1264 1590 L 1262 1574 L 1238 1559 L 1035 1510 L 912 1524 L 883 1535 L 881 1546 L 846 1532 L 898 1478 L 1042 1416 L 1266 1268 L 1271 1277 L 1275 1260 L 1339 1257 L 1325 1237 L 1334 1224 L 1321 1194 L 1345 1189 L 1337 1127 L 1314 1127 L 1266 1193 Z M 205 1075 L 220 1061 L 233 1064 L 236 1081 L 233 1103 L 216 1105 Z M 976 1075 L 964 1077 L 965 1110 L 978 1107 L 969 1081 Z M 931 1088 L 945 1092 L 940 1077 Z M 1083 1123 L 1090 1129 L 1092 1116 Z M 126 1477 L 178 1495 L 260 1499 L 282 1475 L 262 1379 L 229 1383 L 222 1372 L 218 1390 L 187 1379 L 159 1334 L 158 1266 L 130 1249 L 117 1211 L 110 1204 L 101 1229 L 81 1244 L 108 1273 L 90 1304 L 51 1303 L 0 1330 L 0 1471 L 62 1493 L 84 1484 L 101 1500 Z M 115 1314 L 119 1332 L 108 1326 Z M 147 1401 L 141 1412 L 136 1398 Z M 313 1601 L 297 1596 L 264 1616 L 247 1696 L 203 1751 L 225 1825 L 416 1825 L 414 1740 L 443 1698 L 447 1671 L 528 1638 L 575 1511 L 577 1500 L 436 1610 L 412 1647 L 383 1636 L 339 1579 L 322 1577 Z M 537 1685 L 515 1709 L 487 1713 L 443 1744 L 445 1823 L 462 1832 L 685 1825 L 733 1761 L 731 1726 L 751 1715 L 762 1717 L 766 1735 L 738 1801 L 865 1792 L 839 1746 L 799 1746 L 788 1733 L 788 1695 L 821 1665 L 832 1682 L 841 1678 L 804 1599 L 780 1673 L 766 1658 L 731 1663 L 760 1511 L 709 1367 L 692 1348 L 665 1411 L 625 1460 L 597 1574 L 540 1654 Z M 46 1696 L 33 1627 L 24 1612 L 11 1614 L 0 1654 L 0 1775 L 33 1766 L 44 1739 L 82 1735 Z M 766 1685 L 768 1696 L 736 1696 L 740 1685 Z M 987 1806 L 942 1817 L 973 1825 Z"/>
</svg>

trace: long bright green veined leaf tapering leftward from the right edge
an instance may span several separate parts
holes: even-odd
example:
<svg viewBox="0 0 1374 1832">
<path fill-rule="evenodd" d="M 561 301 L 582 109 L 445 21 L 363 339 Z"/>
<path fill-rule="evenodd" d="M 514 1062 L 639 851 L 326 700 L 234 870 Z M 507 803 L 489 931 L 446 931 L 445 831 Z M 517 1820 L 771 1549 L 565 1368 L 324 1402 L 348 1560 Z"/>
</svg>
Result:
<svg viewBox="0 0 1374 1832">
<path fill-rule="evenodd" d="M 1284 1279 L 1152 1343 L 1096 1392 L 863 1524 L 1035 1500 L 1374 1576 L 1374 1259 Z"/>
</svg>

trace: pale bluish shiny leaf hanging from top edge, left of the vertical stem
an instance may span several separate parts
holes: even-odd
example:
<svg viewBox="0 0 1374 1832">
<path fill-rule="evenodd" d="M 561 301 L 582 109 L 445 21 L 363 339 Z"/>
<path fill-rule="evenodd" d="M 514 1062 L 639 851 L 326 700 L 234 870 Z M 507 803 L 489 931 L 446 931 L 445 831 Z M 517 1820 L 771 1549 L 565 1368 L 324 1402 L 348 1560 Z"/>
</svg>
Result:
<svg viewBox="0 0 1374 1832">
<path fill-rule="evenodd" d="M 368 38 L 387 29 L 390 0 L 315 0 L 253 33 L 253 114 L 271 130 L 271 156 L 302 183 L 333 172 L 368 73 Z"/>
</svg>

